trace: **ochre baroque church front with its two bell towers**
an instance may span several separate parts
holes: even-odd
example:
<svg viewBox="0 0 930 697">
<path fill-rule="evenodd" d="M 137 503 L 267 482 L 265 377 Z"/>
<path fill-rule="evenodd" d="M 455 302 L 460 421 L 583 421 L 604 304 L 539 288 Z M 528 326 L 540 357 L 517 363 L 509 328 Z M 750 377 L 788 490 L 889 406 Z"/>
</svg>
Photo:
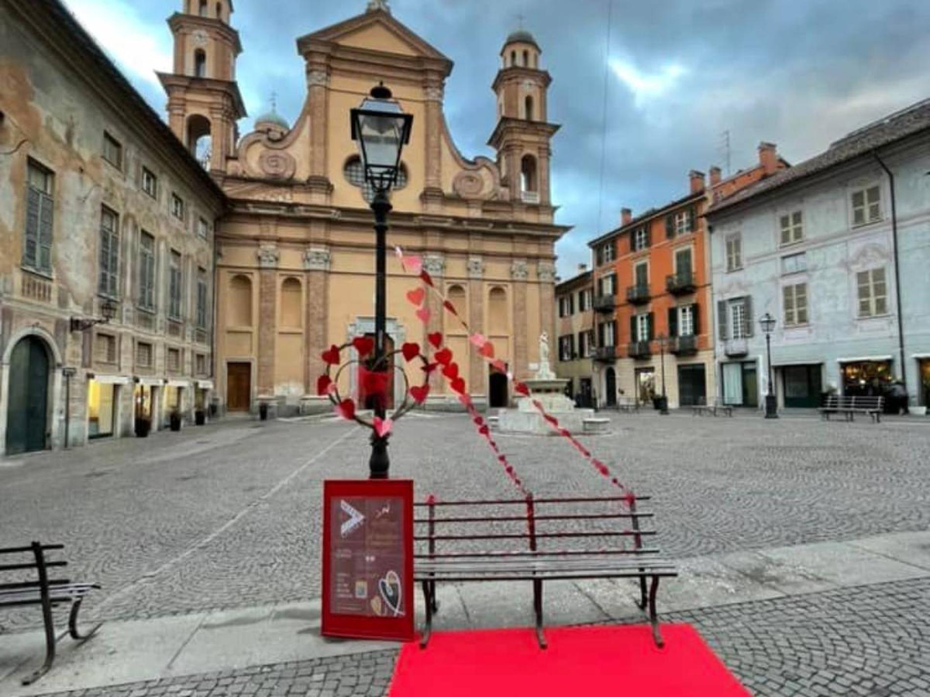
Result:
<svg viewBox="0 0 930 697">
<path fill-rule="evenodd" d="M 497 99 L 489 95 L 486 104 L 498 115 L 488 140 L 495 157 L 469 159 L 445 122 L 452 61 L 383 1 L 299 37 L 306 99 L 297 120 L 288 124 L 272 111 L 240 137 L 236 121 L 245 108 L 235 61 L 242 46 L 232 15 L 230 0 L 184 0 L 168 20 L 174 71 L 160 75 L 169 125 L 191 151 L 200 151 L 227 197 L 216 233 L 220 408 L 248 412 L 268 402 L 281 414 L 328 409 L 315 394 L 325 367 L 321 353 L 374 332 L 371 191 L 349 116 L 380 82 L 414 116 L 392 191 L 389 246 L 422 256 L 472 331 L 490 338 L 515 375 L 528 374 L 538 362 L 538 336 L 554 335 L 554 244 L 568 230 L 553 222 L 551 138 L 558 126 L 548 121 L 551 77 L 533 36 L 513 33 L 501 50 L 492 85 Z M 509 403 L 506 379 L 470 350 L 467 333 L 449 322 L 437 298 L 429 301 L 427 325 L 415 316 L 405 293 L 417 283 L 391 256 L 390 343 L 425 345 L 428 333 L 444 332 L 472 398 Z M 341 380 L 357 397 L 352 371 Z M 403 397 L 403 382 L 394 380 L 395 401 Z M 456 403 L 439 380 L 432 385 L 428 407 Z"/>
</svg>

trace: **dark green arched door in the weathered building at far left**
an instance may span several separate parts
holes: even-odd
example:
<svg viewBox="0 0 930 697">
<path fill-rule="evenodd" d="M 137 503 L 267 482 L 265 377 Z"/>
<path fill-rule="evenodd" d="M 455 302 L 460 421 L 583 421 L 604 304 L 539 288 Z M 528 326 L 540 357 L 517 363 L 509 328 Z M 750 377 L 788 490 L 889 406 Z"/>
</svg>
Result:
<svg viewBox="0 0 930 697">
<path fill-rule="evenodd" d="M 48 349 L 37 336 L 13 348 L 7 392 L 7 454 L 45 450 L 48 443 Z"/>
</svg>

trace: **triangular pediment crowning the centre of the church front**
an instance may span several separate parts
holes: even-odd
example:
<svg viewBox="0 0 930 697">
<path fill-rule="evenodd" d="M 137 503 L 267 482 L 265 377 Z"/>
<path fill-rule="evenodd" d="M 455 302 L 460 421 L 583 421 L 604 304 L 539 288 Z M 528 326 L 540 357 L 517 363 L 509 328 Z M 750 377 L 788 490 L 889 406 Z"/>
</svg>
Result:
<svg viewBox="0 0 930 697">
<path fill-rule="evenodd" d="M 319 42 L 380 50 L 412 58 L 449 61 L 443 53 L 382 10 L 365 12 L 319 32 L 301 36 L 298 46 Z"/>
</svg>

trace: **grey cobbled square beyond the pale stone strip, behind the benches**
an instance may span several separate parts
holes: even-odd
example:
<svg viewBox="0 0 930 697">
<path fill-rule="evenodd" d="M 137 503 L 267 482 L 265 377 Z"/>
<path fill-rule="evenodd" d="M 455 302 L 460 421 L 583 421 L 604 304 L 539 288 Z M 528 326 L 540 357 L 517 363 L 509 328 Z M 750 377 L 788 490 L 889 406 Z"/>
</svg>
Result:
<svg viewBox="0 0 930 697">
<path fill-rule="evenodd" d="M 930 423 L 612 419 L 586 441 L 655 497 L 671 557 L 930 527 Z M 513 495 L 464 416 L 395 431 L 392 476 L 418 498 Z M 611 491 L 562 439 L 498 441 L 537 494 Z M 105 586 L 88 620 L 314 598 L 322 480 L 364 477 L 368 450 L 343 423 L 240 421 L 27 456 L 0 467 L 0 546 L 63 542 L 71 576 Z M 0 631 L 37 619 L 0 613 Z"/>
</svg>

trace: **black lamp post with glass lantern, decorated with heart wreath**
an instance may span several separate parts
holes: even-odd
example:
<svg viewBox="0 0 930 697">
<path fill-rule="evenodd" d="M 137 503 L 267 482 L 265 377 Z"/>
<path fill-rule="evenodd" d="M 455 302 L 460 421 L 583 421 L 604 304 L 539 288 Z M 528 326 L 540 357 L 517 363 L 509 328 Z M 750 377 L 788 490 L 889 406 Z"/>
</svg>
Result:
<svg viewBox="0 0 930 697">
<path fill-rule="evenodd" d="M 400 172 L 401 152 L 410 142 L 413 115 L 404 113 L 384 83 L 372 88 L 369 97 L 352 110 L 352 140 L 358 143 L 365 169 L 365 181 L 374 191 L 371 210 L 375 214 L 375 355 L 373 372 L 387 372 L 385 357 L 387 331 L 387 232 L 388 214 L 392 210 L 388 194 Z M 387 390 L 390 380 L 379 383 Z M 375 415 L 387 415 L 387 393 L 377 394 Z M 386 480 L 391 461 L 388 457 L 389 435 L 371 436 L 371 479 Z"/>
</svg>

